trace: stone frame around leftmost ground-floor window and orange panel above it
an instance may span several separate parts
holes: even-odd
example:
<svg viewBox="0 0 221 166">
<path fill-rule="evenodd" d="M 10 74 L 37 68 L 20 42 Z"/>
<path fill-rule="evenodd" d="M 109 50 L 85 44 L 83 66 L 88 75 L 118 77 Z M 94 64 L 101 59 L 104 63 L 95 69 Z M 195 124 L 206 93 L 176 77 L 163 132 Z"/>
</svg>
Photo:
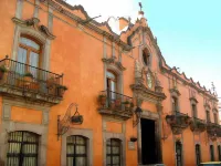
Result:
<svg viewBox="0 0 221 166">
<path fill-rule="evenodd" d="M 11 107 L 20 106 L 32 110 L 42 111 L 42 124 L 31 124 L 27 122 L 11 121 Z M 8 152 L 8 134 L 17 131 L 27 131 L 35 133 L 40 136 L 38 166 L 46 165 L 46 147 L 48 147 L 48 131 L 49 131 L 49 112 L 50 107 L 28 104 L 11 98 L 3 98 L 2 102 L 2 124 L 0 126 L 0 162 L 7 166 Z M 1 163 L 0 163 L 1 164 Z"/>
</svg>

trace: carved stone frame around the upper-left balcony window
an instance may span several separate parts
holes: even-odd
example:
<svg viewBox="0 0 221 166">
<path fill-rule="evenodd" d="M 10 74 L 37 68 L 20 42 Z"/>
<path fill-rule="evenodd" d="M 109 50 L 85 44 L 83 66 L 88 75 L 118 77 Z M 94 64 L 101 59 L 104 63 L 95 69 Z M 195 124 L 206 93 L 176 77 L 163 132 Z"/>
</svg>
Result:
<svg viewBox="0 0 221 166">
<path fill-rule="evenodd" d="M 18 18 L 12 18 L 14 22 L 14 37 L 13 37 L 13 46 L 12 46 L 12 60 L 17 60 L 18 50 L 19 50 L 19 41 L 21 35 L 27 35 L 33 38 L 38 42 L 42 44 L 42 63 L 41 69 L 49 70 L 50 69 L 50 53 L 51 53 L 51 40 L 55 39 L 53 34 L 51 34 L 45 27 L 38 27 L 40 22 L 39 19 L 32 18 L 30 21 L 33 21 L 33 25 L 28 25 L 27 21 L 20 20 Z M 43 30 L 42 30 L 42 29 Z M 49 35 L 48 35 L 49 33 Z"/>
</svg>

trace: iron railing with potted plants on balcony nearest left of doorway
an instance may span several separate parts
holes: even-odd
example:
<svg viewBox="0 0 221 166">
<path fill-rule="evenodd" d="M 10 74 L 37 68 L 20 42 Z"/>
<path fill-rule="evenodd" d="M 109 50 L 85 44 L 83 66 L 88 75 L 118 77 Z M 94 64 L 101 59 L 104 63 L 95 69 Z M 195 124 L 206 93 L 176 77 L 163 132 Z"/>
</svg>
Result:
<svg viewBox="0 0 221 166">
<path fill-rule="evenodd" d="M 130 112 L 134 106 L 133 98 L 120 93 L 106 90 L 102 91 L 101 95 L 105 96 L 103 106 L 109 110 Z"/>
</svg>

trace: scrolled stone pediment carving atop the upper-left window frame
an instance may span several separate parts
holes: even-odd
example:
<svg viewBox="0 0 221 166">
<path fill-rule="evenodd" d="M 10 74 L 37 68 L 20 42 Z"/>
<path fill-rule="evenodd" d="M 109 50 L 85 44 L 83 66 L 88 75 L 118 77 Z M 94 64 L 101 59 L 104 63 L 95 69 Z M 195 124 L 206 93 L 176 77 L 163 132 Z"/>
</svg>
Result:
<svg viewBox="0 0 221 166">
<path fill-rule="evenodd" d="M 46 38 L 53 40 L 55 39 L 56 37 L 53 35 L 50 30 L 43 25 L 43 24 L 40 24 L 40 20 L 36 19 L 36 18 L 31 18 L 31 19 L 28 19 L 28 20 L 20 20 L 18 18 L 12 18 L 12 21 L 17 24 L 20 24 L 20 25 L 23 25 L 23 27 L 33 27 L 33 29 L 38 30 L 40 33 L 44 34 Z"/>
</svg>

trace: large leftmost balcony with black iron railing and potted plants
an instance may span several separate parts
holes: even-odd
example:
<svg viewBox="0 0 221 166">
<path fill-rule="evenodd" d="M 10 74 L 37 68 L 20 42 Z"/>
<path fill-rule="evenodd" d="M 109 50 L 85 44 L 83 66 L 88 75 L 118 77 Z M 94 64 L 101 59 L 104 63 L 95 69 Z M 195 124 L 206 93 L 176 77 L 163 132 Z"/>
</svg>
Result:
<svg viewBox="0 0 221 166">
<path fill-rule="evenodd" d="M 38 101 L 57 103 L 66 90 L 63 74 L 55 74 L 11 59 L 0 61 L 0 92 L 34 97 Z"/>
</svg>

